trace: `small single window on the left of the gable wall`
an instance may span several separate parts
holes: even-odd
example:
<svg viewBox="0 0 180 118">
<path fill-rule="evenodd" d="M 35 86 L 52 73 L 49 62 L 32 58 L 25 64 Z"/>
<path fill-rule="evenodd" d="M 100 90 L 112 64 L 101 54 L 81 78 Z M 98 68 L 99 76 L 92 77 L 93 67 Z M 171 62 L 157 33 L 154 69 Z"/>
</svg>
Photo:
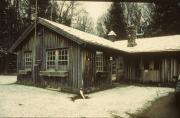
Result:
<svg viewBox="0 0 180 118">
<path fill-rule="evenodd" d="M 25 52 L 25 68 L 31 68 L 32 66 L 32 52 Z"/>
</svg>

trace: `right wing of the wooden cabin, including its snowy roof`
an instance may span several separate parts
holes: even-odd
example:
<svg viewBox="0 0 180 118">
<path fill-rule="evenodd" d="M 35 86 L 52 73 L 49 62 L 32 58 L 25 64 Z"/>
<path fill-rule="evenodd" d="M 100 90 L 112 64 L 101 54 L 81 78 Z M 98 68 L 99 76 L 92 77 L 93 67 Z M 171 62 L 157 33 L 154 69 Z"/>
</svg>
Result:
<svg viewBox="0 0 180 118">
<path fill-rule="evenodd" d="M 127 52 L 125 77 L 127 81 L 171 84 L 180 74 L 180 35 L 136 39 L 136 46 L 116 41 Z"/>
</svg>

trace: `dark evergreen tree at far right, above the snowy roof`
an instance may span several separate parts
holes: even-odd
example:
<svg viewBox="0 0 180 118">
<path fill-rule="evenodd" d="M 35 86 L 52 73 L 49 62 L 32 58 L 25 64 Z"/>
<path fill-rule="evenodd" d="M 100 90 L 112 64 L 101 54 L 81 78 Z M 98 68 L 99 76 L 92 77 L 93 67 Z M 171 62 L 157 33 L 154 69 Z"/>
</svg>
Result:
<svg viewBox="0 0 180 118">
<path fill-rule="evenodd" d="M 152 23 L 145 36 L 180 34 L 180 5 L 178 2 L 157 2 L 154 7 Z"/>
</svg>

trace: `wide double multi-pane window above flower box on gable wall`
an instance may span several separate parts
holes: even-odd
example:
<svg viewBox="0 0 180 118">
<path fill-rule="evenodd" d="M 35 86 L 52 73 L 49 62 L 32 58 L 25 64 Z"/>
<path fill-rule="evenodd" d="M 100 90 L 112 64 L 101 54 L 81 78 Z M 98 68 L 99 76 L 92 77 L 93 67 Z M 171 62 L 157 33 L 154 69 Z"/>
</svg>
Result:
<svg viewBox="0 0 180 118">
<path fill-rule="evenodd" d="M 68 49 L 47 51 L 47 69 L 68 69 Z"/>
</svg>

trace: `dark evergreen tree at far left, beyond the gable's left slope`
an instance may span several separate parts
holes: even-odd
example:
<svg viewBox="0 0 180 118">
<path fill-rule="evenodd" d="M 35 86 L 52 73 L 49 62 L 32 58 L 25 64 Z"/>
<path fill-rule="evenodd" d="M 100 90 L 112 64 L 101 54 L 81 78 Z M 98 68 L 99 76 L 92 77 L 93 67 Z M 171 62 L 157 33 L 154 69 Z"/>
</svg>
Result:
<svg viewBox="0 0 180 118">
<path fill-rule="evenodd" d="M 24 26 L 19 13 L 19 1 L 0 1 L 0 46 L 10 47 Z"/>
</svg>

